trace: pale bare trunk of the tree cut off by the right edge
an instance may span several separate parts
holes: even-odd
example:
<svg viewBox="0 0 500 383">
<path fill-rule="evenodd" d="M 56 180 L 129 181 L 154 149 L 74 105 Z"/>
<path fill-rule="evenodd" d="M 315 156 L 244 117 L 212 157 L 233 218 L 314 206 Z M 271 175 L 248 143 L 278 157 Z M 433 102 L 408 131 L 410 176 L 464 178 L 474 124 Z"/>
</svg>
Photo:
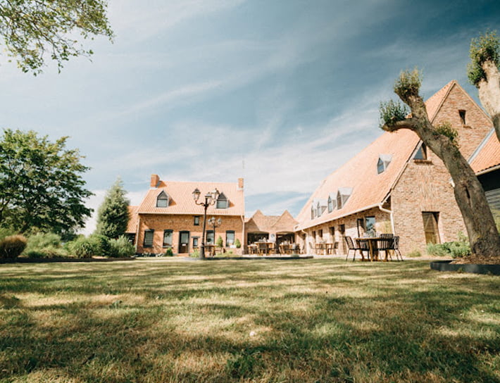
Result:
<svg viewBox="0 0 500 383">
<path fill-rule="evenodd" d="M 486 73 L 486 80 L 477 84 L 479 99 L 492 118 L 496 137 L 500 141 L 500 73 L 492 61 L 482 63 L 482 69 Z"/>
</svg>

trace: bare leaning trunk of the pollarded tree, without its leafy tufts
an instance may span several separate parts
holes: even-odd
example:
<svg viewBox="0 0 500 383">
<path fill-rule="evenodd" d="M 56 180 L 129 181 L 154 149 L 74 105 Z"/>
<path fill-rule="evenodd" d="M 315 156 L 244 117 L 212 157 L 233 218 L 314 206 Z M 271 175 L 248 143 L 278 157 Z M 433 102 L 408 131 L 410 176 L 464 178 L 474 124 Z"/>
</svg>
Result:
<svg viewBox="0 0 500 383">
<path fill-rule="evenodd" d="M 436 155 L 441 158 L 454 182 L 454 194 L 458 208 L 463 216 L 467 229 L 472 256 L 474 258 L 500 258 L 500 237 L 496 230 L 492 211 L 486 200 L 485 192 L 470 168 L 469 163 L 463 158 L 462 153 L 454 142 L 439 134 L 427 118 L 427 111 L 423 99 L 418 95 L 401 97 L 411 108 L 411 118 L 394 125 L 383 127 L 384 130 L 394 131 L 399 129 L 413 130 L 418 137 Z"/>
</svg>

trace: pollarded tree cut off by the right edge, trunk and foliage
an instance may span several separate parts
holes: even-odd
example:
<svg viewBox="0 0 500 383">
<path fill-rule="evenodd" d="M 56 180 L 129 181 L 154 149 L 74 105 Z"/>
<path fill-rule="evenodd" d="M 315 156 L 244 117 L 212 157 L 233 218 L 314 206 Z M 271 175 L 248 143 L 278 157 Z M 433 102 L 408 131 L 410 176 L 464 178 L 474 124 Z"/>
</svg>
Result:
<svg viewBox="0 0 500 383">
<path fill-rule="evenodd" d="M 495 32 L 487 32 L 470 43 L 468 77 L 479 89 L 479 99 L 492 118 L 500 140 L 500 49 Z"/>
</svg>

